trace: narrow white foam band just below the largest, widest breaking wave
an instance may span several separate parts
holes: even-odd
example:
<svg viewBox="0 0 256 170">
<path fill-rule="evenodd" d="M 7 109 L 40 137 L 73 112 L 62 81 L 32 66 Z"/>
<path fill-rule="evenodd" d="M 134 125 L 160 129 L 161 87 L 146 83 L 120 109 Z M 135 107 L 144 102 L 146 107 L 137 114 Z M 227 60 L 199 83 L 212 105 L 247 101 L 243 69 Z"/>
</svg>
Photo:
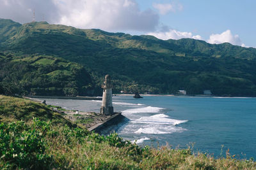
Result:
<svg viewBox="0 0 256 170">
<path fill-rule="evenodd" d="M 154 127 L 141 127 L 138 129 L 135 133 L 138 134 L 172 134 L 174 132 L 183 132 L 186 131 L 186 129 L 183 129 L 182 127 L 175 127 L 174 125 L 168 125 L 168 126 L 154 126 Z"/>
</svg>

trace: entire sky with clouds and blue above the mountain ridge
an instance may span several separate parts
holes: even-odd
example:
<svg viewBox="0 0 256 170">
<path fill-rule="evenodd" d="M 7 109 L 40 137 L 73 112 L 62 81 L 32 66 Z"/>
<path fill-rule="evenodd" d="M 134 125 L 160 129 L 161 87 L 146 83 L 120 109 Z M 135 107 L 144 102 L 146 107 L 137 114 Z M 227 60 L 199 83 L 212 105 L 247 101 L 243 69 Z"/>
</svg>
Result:
<svg viewBox="0 0 256 170">
<path fill-rule="evenodd" d="M 0 18 L 256 48 L 255 0 L 0 0 Z"/>
</svg>

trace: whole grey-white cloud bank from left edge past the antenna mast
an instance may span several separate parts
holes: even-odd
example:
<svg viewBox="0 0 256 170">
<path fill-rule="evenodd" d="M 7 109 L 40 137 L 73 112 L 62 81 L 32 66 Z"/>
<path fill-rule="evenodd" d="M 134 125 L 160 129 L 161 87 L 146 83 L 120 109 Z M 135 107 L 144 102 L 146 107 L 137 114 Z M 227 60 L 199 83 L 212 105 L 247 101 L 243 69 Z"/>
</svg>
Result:
<svg viewBox="0 0 256 170">
<path fill-rule="evenodd" d="M 31 22 L 45 18 L 52 24 L 106 31 L 154 31 L 159 15 L 140 10 L 135 0 L 0 0 L 0 18 Z"/>
</svg>

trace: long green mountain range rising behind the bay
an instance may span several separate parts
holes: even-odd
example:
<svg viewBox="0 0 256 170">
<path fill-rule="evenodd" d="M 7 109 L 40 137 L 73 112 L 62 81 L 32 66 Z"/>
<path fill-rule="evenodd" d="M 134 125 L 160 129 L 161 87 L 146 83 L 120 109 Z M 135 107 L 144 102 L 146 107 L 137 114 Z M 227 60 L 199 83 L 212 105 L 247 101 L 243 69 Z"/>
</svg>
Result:
<svg viewBox="0 0 256 170">
<path fill-rule="evenodd" d="M 20 59 L 45 55 L 81 64 L 92 76 L 94 94 L 98 95 L 104 74 L 111 74 L 114 92 L 175 94 L 186 90 L 193 95 L 211 90 L 218 96 L 256 96 L 256 49 L 229 43 L 163 41 L 154 36 L 76 29 L 47 22 L 20 25 L 1 19 L 0 50 Z M 88 88 L 89 84 L 92 92 L 93 83 L 83 86 Z"/>
</svg>

